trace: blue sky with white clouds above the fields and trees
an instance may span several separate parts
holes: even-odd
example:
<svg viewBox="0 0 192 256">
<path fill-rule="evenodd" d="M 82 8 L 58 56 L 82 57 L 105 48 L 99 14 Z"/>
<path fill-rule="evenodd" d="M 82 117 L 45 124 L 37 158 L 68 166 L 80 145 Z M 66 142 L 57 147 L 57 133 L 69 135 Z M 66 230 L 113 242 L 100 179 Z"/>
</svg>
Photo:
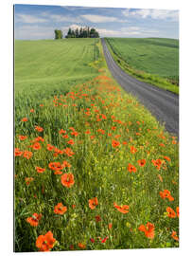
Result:
<svg viewBox="0 0 192 256">
<path fill-rule="evenodd" d="M 179 38 L 179 11 L 15 5 L 15 39 L 53 39 L 68 27 L 95 27 L 100 37 Z"/>
</svg>

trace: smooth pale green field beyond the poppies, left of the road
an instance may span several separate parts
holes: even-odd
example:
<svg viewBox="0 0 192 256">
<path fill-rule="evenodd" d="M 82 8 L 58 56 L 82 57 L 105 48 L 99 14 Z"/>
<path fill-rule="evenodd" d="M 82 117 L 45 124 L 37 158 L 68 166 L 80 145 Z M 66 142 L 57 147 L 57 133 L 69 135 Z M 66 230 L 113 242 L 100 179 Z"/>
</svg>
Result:
<svg viewBox="0 0 192 256">
<path fill-rule="evenodd" d="M 15 42 L 15 91 L 54 92 L 96 76 L 96 39 Z"/>
</svg>

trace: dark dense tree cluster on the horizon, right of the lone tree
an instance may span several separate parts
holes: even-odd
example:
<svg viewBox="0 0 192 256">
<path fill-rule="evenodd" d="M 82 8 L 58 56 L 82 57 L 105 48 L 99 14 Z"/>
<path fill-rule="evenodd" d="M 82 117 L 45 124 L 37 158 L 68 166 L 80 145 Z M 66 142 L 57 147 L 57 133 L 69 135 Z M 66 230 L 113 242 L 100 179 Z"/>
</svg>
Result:
<svg viewBox="0 0 192 256">
<path fill-rule="evenodd" d="M 75 30 L 69 27 L 68 33 L 65 36 L 65 38 L 87 38 L 87 37 L 97 38 L 99 37 L 99 34 L 96 31 L 96 29 L 93 27 L 91 29 L 89 27 L 80 27 L 80 28 L 77 27 Z"/>
</svg>

